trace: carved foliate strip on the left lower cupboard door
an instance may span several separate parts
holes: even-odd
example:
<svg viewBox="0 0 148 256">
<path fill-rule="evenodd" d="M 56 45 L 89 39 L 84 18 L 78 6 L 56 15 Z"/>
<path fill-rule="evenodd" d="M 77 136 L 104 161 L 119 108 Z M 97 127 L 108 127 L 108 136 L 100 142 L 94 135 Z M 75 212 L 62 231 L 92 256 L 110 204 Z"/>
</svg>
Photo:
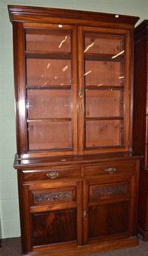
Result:
<svg viewBox="0 0 148 256">
<path fill-rule="evenodd" d="M 73 198 L 72 191 L 38 193 L 38 194 L 34 194 L 34 203 L 72 200 L 72 198 Z"/>
</svg>

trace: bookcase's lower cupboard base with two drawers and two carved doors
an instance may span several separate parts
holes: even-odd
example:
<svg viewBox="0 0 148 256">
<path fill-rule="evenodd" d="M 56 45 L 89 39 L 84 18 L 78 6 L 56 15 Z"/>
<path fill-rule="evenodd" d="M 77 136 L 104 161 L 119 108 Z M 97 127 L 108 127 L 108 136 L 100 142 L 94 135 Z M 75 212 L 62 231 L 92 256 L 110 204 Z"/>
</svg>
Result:
<svg viewBox="0 0 148 256">
<path fill-rule="evenodd" d="M 22 255 L 85 255 L 104 242 L 106 250 L 138 243 L 139 160 L 99 162 L 18 170 Z"/>
</svg>

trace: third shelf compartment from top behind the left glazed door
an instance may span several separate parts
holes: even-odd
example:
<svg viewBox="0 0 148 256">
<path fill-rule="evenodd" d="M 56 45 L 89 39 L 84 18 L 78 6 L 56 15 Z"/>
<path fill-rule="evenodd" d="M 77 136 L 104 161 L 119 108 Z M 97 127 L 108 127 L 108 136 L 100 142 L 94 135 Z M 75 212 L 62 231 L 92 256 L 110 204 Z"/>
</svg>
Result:
<svg viewBox="0 0 148 256">
<path fill-rule="evenodd" d="M 28 118 L 71 118 L 71 90 L 27 90 Z"/>
</svg>

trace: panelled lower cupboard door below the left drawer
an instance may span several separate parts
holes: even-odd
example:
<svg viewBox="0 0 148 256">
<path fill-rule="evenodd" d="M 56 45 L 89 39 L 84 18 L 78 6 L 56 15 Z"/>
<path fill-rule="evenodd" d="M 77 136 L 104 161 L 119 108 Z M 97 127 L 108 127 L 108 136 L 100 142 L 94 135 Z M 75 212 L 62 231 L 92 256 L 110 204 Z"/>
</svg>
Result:
<svg viewBox="0 0 148 256">
<path fill-rule="evenodd" d="M 81 181 L 24 185 L 24 195 L 27 252 L 82 244 Z"/>
</svg>

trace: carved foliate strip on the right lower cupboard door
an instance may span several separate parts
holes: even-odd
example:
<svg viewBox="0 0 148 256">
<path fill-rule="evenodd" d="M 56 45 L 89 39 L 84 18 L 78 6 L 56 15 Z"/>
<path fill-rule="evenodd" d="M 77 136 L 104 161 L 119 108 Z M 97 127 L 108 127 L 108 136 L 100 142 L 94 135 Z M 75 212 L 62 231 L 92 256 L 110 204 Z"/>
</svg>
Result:
<svg viewBox="0 0 148 256">
<path fill-rule="evenodd" d="M 103 188 L 93 188 L 93 196 L 108 196 L 108 195 L 127 195 L 127 184 L 107 186 Z"/>
</svg>

